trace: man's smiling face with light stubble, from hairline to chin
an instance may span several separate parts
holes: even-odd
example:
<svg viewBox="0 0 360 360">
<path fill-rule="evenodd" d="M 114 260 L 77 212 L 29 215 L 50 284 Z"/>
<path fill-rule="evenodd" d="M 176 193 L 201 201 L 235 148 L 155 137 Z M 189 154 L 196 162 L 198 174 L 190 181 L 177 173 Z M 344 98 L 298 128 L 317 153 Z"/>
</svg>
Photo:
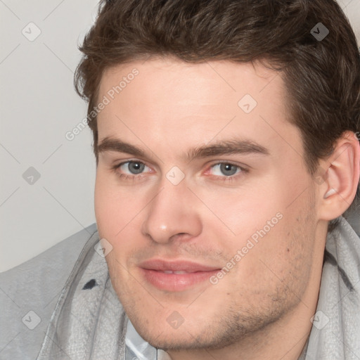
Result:
<svg viewBox="0 0 360 360">
<path fill-rule="evenodd" d="M 316 198 L 284 94 L 280 75 L 249 63 L 104 73 L 96 221 L 113 287 L 151 345 L 224 347 L 307 306 Z"/>
</svg>

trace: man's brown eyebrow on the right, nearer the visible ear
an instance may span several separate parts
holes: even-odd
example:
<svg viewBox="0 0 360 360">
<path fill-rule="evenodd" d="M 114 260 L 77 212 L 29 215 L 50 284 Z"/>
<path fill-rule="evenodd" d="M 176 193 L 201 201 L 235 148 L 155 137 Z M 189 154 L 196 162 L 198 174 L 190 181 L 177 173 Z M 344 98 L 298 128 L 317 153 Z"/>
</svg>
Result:
<svg viewBox="0 0 360 360">
<path fill-rule="evenodd" d="M 188 152 L 187 158 L 191 161 L 195 158 L 207 158 L 218 155 L 248 154 L 270 155 L 270 152 L 267 148 L 264 148 L 264 146 L 255 141 L 248 139 L 232 139 L 193 148 Z"/>
</svg>

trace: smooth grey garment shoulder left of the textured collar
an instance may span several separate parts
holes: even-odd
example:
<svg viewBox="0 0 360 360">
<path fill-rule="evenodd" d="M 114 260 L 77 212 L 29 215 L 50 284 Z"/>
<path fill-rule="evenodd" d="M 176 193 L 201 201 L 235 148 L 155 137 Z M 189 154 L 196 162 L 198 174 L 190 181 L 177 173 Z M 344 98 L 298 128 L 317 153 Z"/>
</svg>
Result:
<svg viewBox="0 0 360 360">
<path fill-rule="evenodd" d="M 96 224 L 0 274 L 1 359 L 36 359 L 58 297 Z"/>
</svg>

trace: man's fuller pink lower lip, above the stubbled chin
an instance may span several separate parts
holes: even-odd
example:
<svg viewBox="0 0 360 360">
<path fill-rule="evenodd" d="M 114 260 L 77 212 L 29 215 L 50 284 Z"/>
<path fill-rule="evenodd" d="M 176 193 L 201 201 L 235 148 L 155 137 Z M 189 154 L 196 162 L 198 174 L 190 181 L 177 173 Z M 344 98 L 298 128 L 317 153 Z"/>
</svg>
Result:
<svg viewBox="0 0 360 360">
<path fill-rule="evenodd" d="M 209 281 L 209 278 L 219 272 L 198 271 L 188 274 L 166 274 L 162 271 L 141 269 L 146 280 L 160 290 L 182 291 L 191 288 L 193 285 Z"/>
</svg>

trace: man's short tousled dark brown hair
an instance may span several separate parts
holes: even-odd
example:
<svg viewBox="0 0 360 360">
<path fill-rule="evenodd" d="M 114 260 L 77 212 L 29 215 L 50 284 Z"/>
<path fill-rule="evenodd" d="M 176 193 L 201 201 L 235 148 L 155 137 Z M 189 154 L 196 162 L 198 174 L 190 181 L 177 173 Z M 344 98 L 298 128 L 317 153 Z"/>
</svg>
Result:
<svg viewBox="0 0 360 360">
<path fill-rule="evenodd" d="M 324 39 L 316 37 L 319 26 L 329 31 Z M 101 0 L 79 49 L 84 56 L 75 88 L 89 102 L 96 162 L 92 110 L 103 71 L 156 56 L 188 63 L 264 60 L 281 71 L 285 105 L 301 131 L 310 174 L 344 131 L 360 134 L 360 54 L 335 0 Z"/>
</svg>

